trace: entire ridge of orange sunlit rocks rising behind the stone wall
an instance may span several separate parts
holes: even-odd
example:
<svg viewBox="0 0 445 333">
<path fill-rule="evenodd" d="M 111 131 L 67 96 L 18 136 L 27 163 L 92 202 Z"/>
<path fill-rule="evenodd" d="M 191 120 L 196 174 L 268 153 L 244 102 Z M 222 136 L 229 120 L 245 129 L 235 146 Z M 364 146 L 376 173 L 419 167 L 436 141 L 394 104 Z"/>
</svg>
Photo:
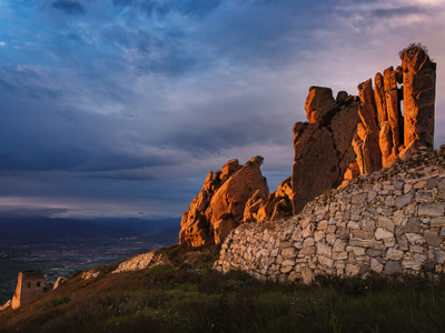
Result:
<svg viewBox="0 0 445 333">
<path fill-rule="evenodd" d="M 372 174 L 434 143 L 436 65 L 423 47 L 400 52 L 402 65 L 388 67 L 358 85 L 358 97 L 310 87 L 308 122 L 294 125 L 290 180 L 270 193 L 254 158 L 227 162 L 210 172 L 184 213 L 180 243 L 220 243 L 244 222 L 279 221 L 296 214 L 327 191 L 359 174 Z M 404 104 L 402 108 L 402 101 Z M 405 112 L 405 117 L 402 114 Z"/>
</svg>

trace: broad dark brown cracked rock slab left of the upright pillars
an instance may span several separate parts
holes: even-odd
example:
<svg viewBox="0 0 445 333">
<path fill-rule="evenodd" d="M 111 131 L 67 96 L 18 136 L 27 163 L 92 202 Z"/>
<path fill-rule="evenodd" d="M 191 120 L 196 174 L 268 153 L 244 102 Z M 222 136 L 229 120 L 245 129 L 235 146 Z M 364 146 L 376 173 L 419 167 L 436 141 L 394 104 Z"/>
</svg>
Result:
<svg viewBox="0 0 445 333">
<path fill-rule="evenodd" d="M 315 196 L 339 185 L 347 170 L 355 175 L 350 142 L 355 137 L 359 102 L 346 92 L 337 99 L 328 88 L 312 87 L 306 99 L 310 123 L 294 125 L 295 162 L 291 189 L 294 213 Z"/>
</svg>

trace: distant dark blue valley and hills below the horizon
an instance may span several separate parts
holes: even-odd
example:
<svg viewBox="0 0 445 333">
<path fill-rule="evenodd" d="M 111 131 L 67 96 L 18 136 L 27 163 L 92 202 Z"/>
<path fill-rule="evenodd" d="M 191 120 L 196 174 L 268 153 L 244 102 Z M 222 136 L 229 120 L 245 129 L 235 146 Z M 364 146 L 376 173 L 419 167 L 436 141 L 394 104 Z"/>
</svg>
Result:
<svg viewBox="0 0 445 333">
<path fill-rule="evenodd" d="M 12 297 L 21 270 L 56 280 L 175 244 L 179 230 L 179 219 L 0 219 L 0 303 Z"/>
</svg>

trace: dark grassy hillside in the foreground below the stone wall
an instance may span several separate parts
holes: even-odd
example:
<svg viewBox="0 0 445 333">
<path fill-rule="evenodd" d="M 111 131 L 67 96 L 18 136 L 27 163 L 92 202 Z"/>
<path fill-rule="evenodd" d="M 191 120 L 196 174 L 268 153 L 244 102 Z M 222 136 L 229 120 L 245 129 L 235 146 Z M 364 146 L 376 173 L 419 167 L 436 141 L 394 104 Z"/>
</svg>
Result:
<svg viewBox="0 0 445 333">
<path fill-rule="evenodd" d="M 171 264 L 88 283 L 77 274 L 19 310 L 2 311 L 0 332 L 445 331 L 445 280 L 263 283 L 245 272 L 211 271 L 217 246 L 164 251 Z"/>
</svg>

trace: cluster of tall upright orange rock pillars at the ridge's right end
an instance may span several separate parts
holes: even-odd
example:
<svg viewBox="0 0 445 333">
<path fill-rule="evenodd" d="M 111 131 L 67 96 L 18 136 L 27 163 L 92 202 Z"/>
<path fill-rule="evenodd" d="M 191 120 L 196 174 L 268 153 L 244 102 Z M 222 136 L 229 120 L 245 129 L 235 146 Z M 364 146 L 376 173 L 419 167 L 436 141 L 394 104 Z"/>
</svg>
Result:
<svg viewBox="0 0 445 333">
<path fill-rule="evenodd" d="M 392 165 L 413 145 L 434 144 L 436 64 L 416 44 L 402 51 L 400 59 L 396 70 L 389 67 L 375 75 L 374 91 L 370 79 L 358 85 L 360 123 L 353 145 L 362 174 Z"/>
</svg>

